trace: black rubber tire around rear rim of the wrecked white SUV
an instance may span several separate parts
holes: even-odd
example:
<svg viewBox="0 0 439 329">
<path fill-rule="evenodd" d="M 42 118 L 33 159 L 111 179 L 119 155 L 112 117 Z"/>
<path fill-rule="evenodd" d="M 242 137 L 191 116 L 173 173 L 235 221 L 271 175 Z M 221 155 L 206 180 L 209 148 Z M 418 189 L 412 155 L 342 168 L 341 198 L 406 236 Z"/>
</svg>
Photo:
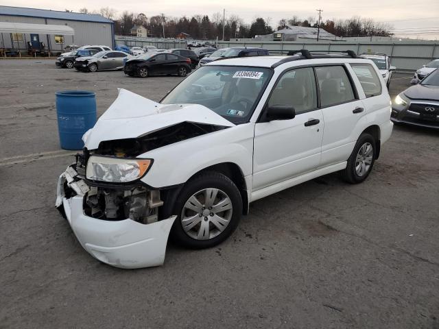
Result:
<svg viewBox="0 0 439 329">
<path fill-rule="evenodd" d="M 361 161 L 357 162 L 357 156 L 359 155 L 359 151 L 361 147 L 365 147 L 367 149 L 367 145 L 370 145 L 372 147 L 371 155 L 372 159 L 370 161 L 370 166 L 368 169 L 362 174 L 359 175 L 357 171 L 356 164 L 360 163 L 361 167 Z M 377 156 L 377 141 L 375 141 L 375 138 L 371 134 L 363 133 L 359 136 L 357 143 L 355 143 L 355 147 L 352 151 L 351 156 L 348 158 L 348 163 L 346 164 L 346 169 L 342 170 L 342 178 L 351 184 L 358 184 L 366 180 L 368 178 L 368 175 L 370 174 L 370 171 L 372 171 L 373 164 L 375 163 L 375 158 Z M 366 166 L 367 167 L 367 166 Z"/>
</svg>

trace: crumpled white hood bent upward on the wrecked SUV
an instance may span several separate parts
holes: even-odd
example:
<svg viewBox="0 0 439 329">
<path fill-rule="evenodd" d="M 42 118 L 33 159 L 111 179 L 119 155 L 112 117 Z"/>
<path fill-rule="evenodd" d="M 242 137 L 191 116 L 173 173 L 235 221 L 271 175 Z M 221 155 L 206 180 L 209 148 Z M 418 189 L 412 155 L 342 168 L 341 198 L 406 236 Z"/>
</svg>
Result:
<svg viewBox="0 0 439 329">
<path fill-rule="evenodd" d="M 88 149 L 97 149 L 102 141 L 137 138 L 182 122 L 233 127 L 234 124 L 199 104 L 163 105 L 125 89 L 106 110 L 95 126 L 84 134 Z"/>
</svg>

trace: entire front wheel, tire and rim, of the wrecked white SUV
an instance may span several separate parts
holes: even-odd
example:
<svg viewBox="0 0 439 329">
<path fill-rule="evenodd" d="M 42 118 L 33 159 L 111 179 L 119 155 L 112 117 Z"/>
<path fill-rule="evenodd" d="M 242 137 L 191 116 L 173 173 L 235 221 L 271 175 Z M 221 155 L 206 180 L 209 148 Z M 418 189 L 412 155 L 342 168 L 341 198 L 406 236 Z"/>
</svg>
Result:
<svg viewBox="0 0 439 329">
<path fill-rule="evenodd" d="M 178 215 L 171 230 L 174 241 L 195 249 L 213 247 L 237 228 L 241 194 L 226 175 L 202 173 L 182 188 L 173 213 Z"/>
</svg>

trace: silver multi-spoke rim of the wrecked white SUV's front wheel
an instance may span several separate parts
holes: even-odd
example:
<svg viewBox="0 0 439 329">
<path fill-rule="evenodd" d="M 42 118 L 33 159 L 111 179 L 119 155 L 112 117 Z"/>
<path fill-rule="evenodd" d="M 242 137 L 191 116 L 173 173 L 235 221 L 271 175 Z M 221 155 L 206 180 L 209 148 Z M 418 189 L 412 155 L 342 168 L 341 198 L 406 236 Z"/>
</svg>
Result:
<svg viewBox="0 0 439 329">
<path fill-rule="evenodd" d="M 223 232 L 232 218 L 230 197 L 217 188 L 204 188 L 189 197 L 182 208 L 180 221 L 192 239 L 209 240 Z"/>
</svg>

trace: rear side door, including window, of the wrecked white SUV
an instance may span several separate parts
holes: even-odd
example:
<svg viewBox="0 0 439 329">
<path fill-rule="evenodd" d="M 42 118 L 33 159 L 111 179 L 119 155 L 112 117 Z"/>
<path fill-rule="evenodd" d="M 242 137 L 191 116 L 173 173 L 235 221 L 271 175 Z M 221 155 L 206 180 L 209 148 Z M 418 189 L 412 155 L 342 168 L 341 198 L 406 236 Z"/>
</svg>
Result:
<svg viewBox="0 0 439 329">
<path fill-rule="evenodd" d="M 348 160 L 359 133 L 366 126 L 366 110 L 359 99 L 347 68 L 318 66 L 316 76 L 324 119 L 320 167 Z"/>
</svg>

